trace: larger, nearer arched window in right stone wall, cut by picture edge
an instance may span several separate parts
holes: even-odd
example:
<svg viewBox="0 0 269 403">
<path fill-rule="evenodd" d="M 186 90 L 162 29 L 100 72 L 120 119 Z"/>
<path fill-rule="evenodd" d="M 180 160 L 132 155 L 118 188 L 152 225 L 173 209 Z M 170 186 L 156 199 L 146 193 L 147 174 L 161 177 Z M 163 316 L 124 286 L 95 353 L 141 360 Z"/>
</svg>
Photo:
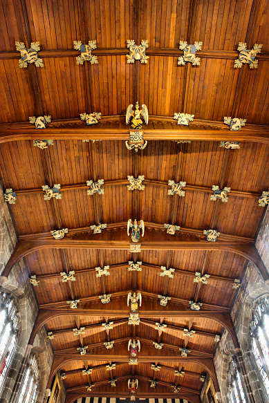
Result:
<svg viewBox="0 0 269 403">
<path fill-rule="evenodd" d="M 251 348 L 269 397 L 269 298 L 258 301 L 250 324 Z"/>
</svg>

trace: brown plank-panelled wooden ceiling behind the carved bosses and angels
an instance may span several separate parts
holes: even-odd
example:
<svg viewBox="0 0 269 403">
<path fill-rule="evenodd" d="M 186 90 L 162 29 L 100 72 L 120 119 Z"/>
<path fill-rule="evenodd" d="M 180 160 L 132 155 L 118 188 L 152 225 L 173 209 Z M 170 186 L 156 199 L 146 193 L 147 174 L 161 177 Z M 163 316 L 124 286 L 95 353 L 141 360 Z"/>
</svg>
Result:
<svg viewBox="0 0 269 403">
<path fill-rule="evenodd" d="M 214 378 L 214 336 L 221 335 L 225 327 L 229 329 L 227 318 L 236 295 L 233 281 L 243 279 L 247 259 L 244 254 L 239 256 L 221 247 L 192 250 L 168 246 L 171 241 L 203 244 L 203 229 L 207 228 L 221 232 L 216 245 L 225 241 L 240 245 L 254 242 L 264 212 L 258 199 L 261 191 L 268 189 L 269 177 L 266 3 L 1 2 L 0 170 L 3 188 L 17 193 L 10 212 L 19 242 L 35 241 L 40 245 L 50 238 L 50 230 L 59 228 L 68 228 L 67 240 L 89 242 L 86 247 L 69 248 L 64 247 L 64 240 L 51 238 L 53 245 L 37 248 L 24 257 L 29 274 L 36 274 L 40 281 L 35 287 L 39 325 L 45 324 L 55 334 L 51 340 L 55 352 L 53 369 L 66 373 L 68 393 L 86 395 L 85 385 L 92 382 L 93 393 L 107 395 L 112 391 L 124 395 L 128 393 L 129 376 L 137 376 L 141 396 L 152 393 L 149 379 L 157 379 L 154 396 L 171 395 L 171 385 L 176 384 L 182 388 L 180 396 L 196 402 L 203 386 L 201 373 L 210 372 Z M 73 41 L 86 43 L 89 39 L 97 40 L 98 48 L 93 54 L 98 55 L 98 64 L 77 66 Z M 137 44 L 141 39 L 149 41 L 147 65 L 139 61 L 127 64 L 127 39 L 135 39 Z M 178 50 L 180 40 L 189 44 L 203 41 L 203 49 L 198 52 L 200 66 L 177 65 L 182 54 Z M 19 68 L 15 41 L 26 45 L 39 41 L 44 68 Z M 250 70 L 247 65 L 234 69 L 239 41 L 247 42 L 250 48 L 255 43 L 263 44 L 257 69 Z M 152 120 L 159 129 L 160 122 L 169 122 L 176 128 L 176 122 L 169 118 L 178 111 L 195 115 L 189 133 L 192 124 L 221 132 L 223 117 L 236 116 L 247 119 L 242 133 L 252 133 L 253 127 L 264 141 L 245 141 L 239 150 L 228 150 L 219 147 L 219 141 L 203 141 L 202 135 L 201 141 L 185 144 L 152 140 L 145 150 L 134 153 L 124 141 L 113 140 L 113 134 L 107 132 L 106 139 L 110 140 L 98 142 L 70 140 L 66 135 L 66 140 L 56 140 L 45 150 L 33 147 L 33 140 L 22 140 L 24 136 L 34 138 L 27 134 L 35 135 L 33 126 L 27 123 L 31 115 L 51 115 L 52 120 L 60 121 L 52 122 L 50 127 L 57 131 L 62 126 L 68 133 L 69 128 L 84 127 L 77 120 L 80 113 L 97 111 L 107 116 L 107 127 L 116 130 L 123 127 L 122 117 L 110 115 L 124 115 L 127 106 L 136 100 L 147 104 L 149 124 Z M 102 119 L 98 125 L 102 127 Z M 24 131 L 21 140 L 10 141 L 18 128 Z M 89 133 L 91 129 L 87 128 Z M 227 126 L 224 129 L 223 133 L 230 135 Z M 46 137 L 50 129 L 37 132 L 37 138 Z M 9 139 L 5 137 L 7 133 Z M 144 175 L 145 190 L 128 191 L 129 175 Z M 86 180 L 100 178 L 104 178 L 104 195 L 87 196 Z M 168 180 L 187 182 L 185 197 L 168 196 Z M 57 183 L 61 185 L 62 200 L 45 201 L 42 185 Z M 210 200 L 212 185 L 231 187 L 228 203 Z M 129 218 L 145 221 L 145 243 L 158 238 L 163 246 L 147 250 L 142 247 L 138 254 L 118 247 L 118 240 L 131 242 L 126 234 Z M 107 223 L 108 229 L 93 236 L 89 226 L 100 222 Z M 164 223 L 180 225 L 181 230 L 175 236 L 165 234 Z M 91 247 L 93 239 L 104 240 L 107 248 Z M 143 245 L 143 238 L 140 241 Z M 58 245 L 62 246 L 58 249 Z M 142 261 L 142 271 L 128 271 L 129 261 Z M 95 267 L 104 265 L 110 265 L 110 276 L 97 278 Z M 160 277 L 161 265 L 176 269 L 174 279 Z M 59 273 L 70 270 L 75 270 L 76 281 L 62 283 Z M 194 283 L 195 272 L 208 273 L 212 278 L 207 285 Z M 142 292 L 140 310 L 145 315 L 141 313 L 139 326 L 127 324 L 130 290 Z M 101 294 L 112 294 L 111 303 L 100 303 Z M 160 306 L 159 294 L 171 297 L 167 308 Z M 68 308 L 66 301 L 71 299 L 80 299 L 79 310 Z M 203 303 L 196 316 L 189 310 L 190 300 Z M 218 315 L 227 317 L 217 321 Z M 105 332 L 102 323 L 108 321 L 114 321 L 115 326 Z M 159 333 L 154 328 L 156 322 L 167 324 L 165 331 Z M 85 334 L 74 336 L 72 329 L 80 326 L 86 327 Z M 184 328 L 196 330 L 194 337 L 183 337 Z M 130 337 L 141 341 L 137 366 L 128 364 Z M 115 340 L 112 350 L 104 348 L 108 340 Z M 156 350 L 153 341 L 163 343 L 163 349 Z M 83 345 L 89 349 L 86 356 L 80 357 L 76 348 Z M 180 356 L 180 346 L 191 350 L 185 361 Z M 109 362 L 116 362 L 114 371 L 106 371 Z M 161 370 L 154 372 L 151 364 L 160 364 Z M 82 369 L 87 367 L 93 368 L 92 375 L 82 375 Z M 175 369 L 181 368 L 185 375 L 175 376 Z M 111 377 L 118 379 L 115 388 L 107 383 Z"/>
</svg>

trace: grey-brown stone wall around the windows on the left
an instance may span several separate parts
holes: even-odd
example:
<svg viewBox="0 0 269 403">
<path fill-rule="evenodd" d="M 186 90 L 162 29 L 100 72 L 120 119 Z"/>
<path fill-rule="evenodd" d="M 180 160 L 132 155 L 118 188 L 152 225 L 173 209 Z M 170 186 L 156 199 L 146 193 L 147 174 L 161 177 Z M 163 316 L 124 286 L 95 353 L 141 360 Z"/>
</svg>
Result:
<svg viewBox="0 0 269 403">
<path fill-rule="evenodd" d="M 10 255 L 16 243 L 17 235 L 0 186 L 0 274 L 10 259 Z M 15 358 L 12 360 L 11 366 L 8 369 L 8 376 L 3 388 L 3 393 L 0 396 L 0 403 L 17 403 L 21 379 L 31 353 L 36 354 L 40 369 L 39 396 L 37 402 L 42 403 L 46 401 L 46 384 L 53 362 L 53 350 L 50 341 L 46 339 L 46 331 L 44 328 L 38 332 L 34 345 L 28 345 L 30 333 L 35 324 L 38 312 L 35 292 L 33 291 L 33 286 L 28 282 L 28 278 L 29 270 L 24 259 L 21 259 L 21 261 L 12 268 L 8 281 L 0 285 L 1 290 L 10 292 L 15 299 L 17 299 L 21 321 Z M 64 402 L 64 397 L 62 402 Z"/>
</svg>

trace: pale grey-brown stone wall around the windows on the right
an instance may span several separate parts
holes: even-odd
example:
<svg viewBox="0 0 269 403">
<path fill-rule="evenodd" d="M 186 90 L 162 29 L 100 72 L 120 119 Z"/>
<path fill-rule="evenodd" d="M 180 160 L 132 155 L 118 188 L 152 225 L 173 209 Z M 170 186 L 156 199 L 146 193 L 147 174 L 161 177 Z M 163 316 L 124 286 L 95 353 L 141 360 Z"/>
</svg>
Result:
<svg viewBox="0 0 269 403">
<path fill-rule="evenodd" d="M 263 223 L 256 240 L 256 247 L 269 271 L 269 209 L 267 209 L 263 218 Z M 230 403 L 228 398 L 228 371 L 230 359 L 233 358 L 239 363 L 248 402 L 267 403 L 268 401 L 266 391 L 256 371 L 256 364 L 254 364 L 250 351 L 250 321 L 252 320 L 252 310 L 257 299 L 265 294 L 269 294 L 269 290 L 256 266 L 249 262 L 245 270 L 245 277 L 242 281 L 241 288 L 234 301 L 231 314 L 240 348 L 234 348 L 232 339 L 225 330 L 214 356 L 216 374 L 221 388 L 221 396 L 218 396 L 221 403 Z M 205 382 L 201 393 L 202 403 L 206 402 L 206 386 L 207 382 Z"/>
</svg>

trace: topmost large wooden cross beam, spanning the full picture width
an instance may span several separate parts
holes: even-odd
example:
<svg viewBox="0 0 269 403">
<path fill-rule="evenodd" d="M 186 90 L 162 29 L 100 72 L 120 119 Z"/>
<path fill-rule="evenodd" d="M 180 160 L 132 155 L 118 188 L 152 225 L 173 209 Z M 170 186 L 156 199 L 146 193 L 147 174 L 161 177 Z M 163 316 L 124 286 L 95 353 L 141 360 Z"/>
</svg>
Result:
<svg viewBox="0 0 269 403">
<path fill-rule="evenodd" d="M 247 124 L 241 131 L 230 131 L 223 122 L 194 120 L 189 126 L 178 125 L 173 118 L 149 116 L 142 129 L 145 140 L 206 140 L 269 143 L 269 126 Z M 79 119 L 53 120 L 49 127 L 37 130 L 29 122 L 0 124 L 0 143 L 17 140 L 128 140 L 130 128 L 124 116 L 104 116 L 95 126 Z"/>
</svg>

